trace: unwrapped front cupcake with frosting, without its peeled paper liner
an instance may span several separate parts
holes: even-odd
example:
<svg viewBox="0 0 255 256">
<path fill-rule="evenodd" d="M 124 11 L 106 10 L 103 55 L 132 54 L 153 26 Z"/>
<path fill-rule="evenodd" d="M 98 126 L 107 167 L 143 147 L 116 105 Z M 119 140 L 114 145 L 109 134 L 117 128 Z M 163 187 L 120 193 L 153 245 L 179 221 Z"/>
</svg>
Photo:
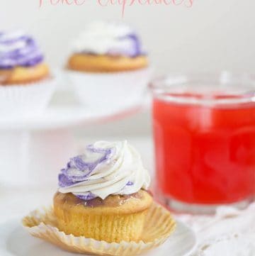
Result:
<svg viewBox="0 0 255 256">
<path fill-rule="evenodd" d="M 65 234 L 108 243 L 138 241 L 152 196 L 149 174 L 127 141 L 99 141 L 73 157 L 54 196 L 57 226 Z"/>
</svg>

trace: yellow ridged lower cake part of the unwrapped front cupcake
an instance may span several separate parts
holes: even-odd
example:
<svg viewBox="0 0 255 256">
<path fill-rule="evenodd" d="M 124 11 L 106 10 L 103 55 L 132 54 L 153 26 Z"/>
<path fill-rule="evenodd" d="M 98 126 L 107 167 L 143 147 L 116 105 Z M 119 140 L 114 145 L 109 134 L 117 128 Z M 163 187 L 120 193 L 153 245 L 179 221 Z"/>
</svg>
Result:
<svg viewBox="0 0 255 256">
<path fill-rule="evenodd" d="M 122 240 L 139 240 L 147 214 L 147 210 L 145 210 L 120 216 L 110 213 L 86 216 L 74 209 L 71 212 L 65 211 L 56 204 L 54 210 L 58 220 L 58 228 L 64 233 L 105 240 L 108 243 L 113 241 L 119 243 Z M 116 226 L 118 226 L 118 230 L 115 228 Z"/>
</svg>

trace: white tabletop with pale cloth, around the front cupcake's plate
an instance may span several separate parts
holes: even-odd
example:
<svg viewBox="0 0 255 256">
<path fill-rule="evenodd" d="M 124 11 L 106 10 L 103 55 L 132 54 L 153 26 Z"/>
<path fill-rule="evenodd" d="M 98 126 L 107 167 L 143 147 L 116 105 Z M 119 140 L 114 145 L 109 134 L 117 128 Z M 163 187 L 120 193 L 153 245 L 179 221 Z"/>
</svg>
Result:
<svg viewBox="0 0 255 256">
<path fill-rule="evenodd" d="M 111 138 L 108 138 L 110 140 Z M 120 138 L 112 138 L 118 140 Z M 93 138 L 89 138 L 93 141 Z M 141 152 L 145 167 L 153 177 L 153 143 L 150 138 L 129 138 Z M 8 187 L 0 183 L 0 223 L 22 218 L 28 212 L 49 205 L 57 189 L 56 185 L 42 187 Z M 15 178 L 15 177 L 13 177 Z M 153 179 L 153 178 L 152 178 Z M 52 184 L 54 181 L 52 181 Z M 255 204 L 244 211 L 219 208 L 215 216 L 176 216 L 198 235 L 196 256 L 254 256 L 255 255 Z M 183 241 L 185 243 L 185 241 Z M 181 255 L 180 255 L 181 256 Z"/>
</svg>

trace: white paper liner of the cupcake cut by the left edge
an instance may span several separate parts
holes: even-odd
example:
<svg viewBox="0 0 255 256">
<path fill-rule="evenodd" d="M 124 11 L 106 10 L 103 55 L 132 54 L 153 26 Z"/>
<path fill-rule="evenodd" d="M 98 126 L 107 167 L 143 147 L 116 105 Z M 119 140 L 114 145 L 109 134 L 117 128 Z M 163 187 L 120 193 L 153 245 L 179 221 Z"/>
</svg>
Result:
<svg viewBox="0 0 255 256">
<path fill-rule="evenodd" d="M 45 110 L 57 79 L 0 86 L 0 114 L 6 118 L 33 116 Z M 8 113 L 8 116 L 6 115 Z"/>
</svg>

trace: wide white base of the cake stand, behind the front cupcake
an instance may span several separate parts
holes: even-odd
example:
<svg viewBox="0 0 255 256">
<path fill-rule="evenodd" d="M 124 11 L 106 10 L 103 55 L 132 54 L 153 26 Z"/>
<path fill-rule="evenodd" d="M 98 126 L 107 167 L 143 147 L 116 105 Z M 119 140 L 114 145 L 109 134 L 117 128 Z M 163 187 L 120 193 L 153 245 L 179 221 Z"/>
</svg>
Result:
<svg viewBox="0 0 255 256">
<path fill-rule="evenodd" d="M 57 174 L 76 152 L 67 129 L 1 130 L 0 182 L 37 187 L 57 184 Z"/>
</svg>

